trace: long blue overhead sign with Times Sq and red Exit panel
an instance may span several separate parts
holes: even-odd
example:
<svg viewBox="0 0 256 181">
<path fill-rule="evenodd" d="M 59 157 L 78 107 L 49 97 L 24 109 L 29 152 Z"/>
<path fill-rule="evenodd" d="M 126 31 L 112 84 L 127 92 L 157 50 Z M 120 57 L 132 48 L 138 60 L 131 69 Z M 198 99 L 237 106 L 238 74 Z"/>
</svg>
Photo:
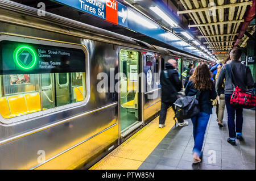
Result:
<svg viewBox="0 0 256 181">
<path fill-rule="evenodd" d="M 192 52 L 189 44 L 182 44 L 183 41 L 171 37 L 170 32 L 161 28 L 157 23 L 148 19 L 144 15 L 134 11 L 115 0 L 51 0 L 65 6 L 73 7 L 79 11 L 87 12 L 110 23 L 118 24 L 130 30 L 142 33 L 166 44 L 177 47 L 186 52 Z M 169 37 L 170 36 L 170 37 Z M 168 38 L 167 38 L 168 37 Z"/>
</svg>

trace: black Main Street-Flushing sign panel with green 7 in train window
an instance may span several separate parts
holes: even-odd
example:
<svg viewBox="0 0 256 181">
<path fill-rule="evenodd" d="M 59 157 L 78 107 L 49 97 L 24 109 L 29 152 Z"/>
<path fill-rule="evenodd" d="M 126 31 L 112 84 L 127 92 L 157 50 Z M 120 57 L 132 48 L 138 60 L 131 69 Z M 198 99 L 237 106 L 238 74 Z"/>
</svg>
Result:
<svg viewBox="0 0 256 181">
<path fill-rule="evenodd" d="M 0 74 L 85 72 L 82 49 L 0 42 Z"/>
</svg>

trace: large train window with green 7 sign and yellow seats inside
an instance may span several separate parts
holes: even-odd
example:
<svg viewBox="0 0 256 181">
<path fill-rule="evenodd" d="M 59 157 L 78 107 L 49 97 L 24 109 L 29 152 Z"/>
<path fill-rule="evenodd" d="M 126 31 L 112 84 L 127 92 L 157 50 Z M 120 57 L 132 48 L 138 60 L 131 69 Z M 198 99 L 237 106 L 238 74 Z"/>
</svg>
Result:
<svg viewBox="0 0 256 181">
<path fill-rule="evenodd" d="M 76 47 L 0 41 L 1 116 L 10 119 L 82 102 L 85 52 Z"/>
</svg>

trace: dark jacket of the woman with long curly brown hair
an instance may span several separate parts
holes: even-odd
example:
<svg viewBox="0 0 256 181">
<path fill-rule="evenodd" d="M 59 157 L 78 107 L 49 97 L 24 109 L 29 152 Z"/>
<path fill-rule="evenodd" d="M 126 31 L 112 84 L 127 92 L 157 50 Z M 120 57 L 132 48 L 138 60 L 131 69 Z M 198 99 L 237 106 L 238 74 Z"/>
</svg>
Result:
<svg viewBox="0 0 256 181">
<path fill-rule="evenodd" d="M 213 107 L 212 101 L 210 99 L 212 100 L 216 99 L 216 96 L 217 96 L 214 82 L 212 82 L 212 84 L 213 84 L 212 90 L 201 91 L 199 95 L 200 112 L 205 112 L 205 113 L 208 113 L 209 115 L 212 114 L 212 107 Z M 192 81 L 189 81 L 185 89 L 185 95 L 192 96 L 192 95 L 196 95 L 196 93 L 197 93 L 197 90 L 194 89 Z"/>
</svg>

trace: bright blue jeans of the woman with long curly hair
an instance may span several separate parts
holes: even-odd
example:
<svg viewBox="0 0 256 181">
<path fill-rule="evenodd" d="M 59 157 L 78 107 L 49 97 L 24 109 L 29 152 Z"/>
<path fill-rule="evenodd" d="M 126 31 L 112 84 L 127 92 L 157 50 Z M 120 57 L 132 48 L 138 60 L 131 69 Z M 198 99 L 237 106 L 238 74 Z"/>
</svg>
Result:
<svg viewBox="0 0 256 181">
<path fill-rule="evenodd" d="M 204 142 L 204 133 L 207 128 L 210 115 L 205 112 L 200 112 L 199 115 L 191 118 L 193 123 L 193 137 L 195 141 L 195 146 L 193 148 L 193 153 L 197 153 L 201 156 L 201 150 Z"/>
</svg>

